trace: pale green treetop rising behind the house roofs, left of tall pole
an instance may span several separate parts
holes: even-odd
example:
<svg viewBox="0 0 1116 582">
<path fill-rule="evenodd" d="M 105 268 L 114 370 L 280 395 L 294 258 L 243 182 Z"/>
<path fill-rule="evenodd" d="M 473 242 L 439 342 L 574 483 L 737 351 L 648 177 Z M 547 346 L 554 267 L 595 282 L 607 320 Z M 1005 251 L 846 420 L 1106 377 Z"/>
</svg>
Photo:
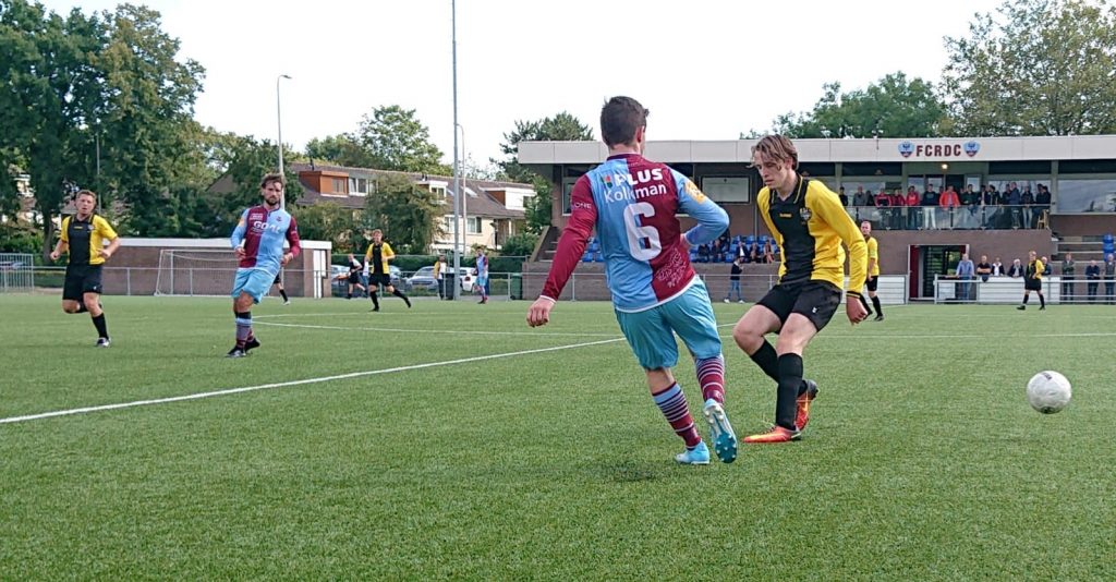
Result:
<svg viewBox="0 0 1116 582">
<path fill-rule="evenodd" d="M 452 173 L 441 163 L 442 152 L 430 141 L 430 130 L 415 117 L 414 109 L 398 105 L 376 107 L 365 115 L 355 135 L 372 153 L 369 168 L 401 172 Z"/>
</svg>

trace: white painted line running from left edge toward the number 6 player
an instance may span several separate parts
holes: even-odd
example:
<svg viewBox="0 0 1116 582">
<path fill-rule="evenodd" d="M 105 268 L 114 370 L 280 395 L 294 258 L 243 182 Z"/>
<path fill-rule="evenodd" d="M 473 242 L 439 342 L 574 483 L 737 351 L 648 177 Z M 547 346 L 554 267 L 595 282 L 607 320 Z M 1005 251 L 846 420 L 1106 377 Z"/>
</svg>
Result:
<svg viewBox="0 0 1116 582">
<path fill-rule="evenodd" d="M 430 363 L 425 363 L 425 364 L 404 365 L 404 366 L 398 366 L 398 368 L 387 368 L 387 369 L 383 369 L 383 370 L 367 370 L 367 371 L 364 371 L 364 372 L 350 372 L 350 373 L 347 373 L 347 374 L 337 374 L 337 375 L 329 375 L 329 376 L 321 376 L 321 378 L 308 378 L 308 379 L 305 379 L 305 380 L 292 380 L 290 382 L 275 382 L 275 383 L 270 383 L 270 384 L 259 384 L 259 385 L 254 385 L 254 387 L 232 388 L 232 389 L 229 389 L 229 390 L 215 390 L 213 392 L 198 392 L 198 393 L 194 393 L 194 394 L 185 394 L 185 395 L 181 395 L 181 397 L 157 398 L 157 399 L 152 399 L 152 400 L 136 400 L 134 402 L 121 402 L 121 403 L 117 403 L 117 404 L 104 404 L 104 406 L 99 406 L 99 407 L 73 408 L 73 409 L 68 409 L 68 410 L 55 410 L 55 411 L 51 411 L 51 412 L 40 412 L 38 414 L 26 414 L 26 416 L 22 416 L 22 417 L 0 418 L 0 424 L 9 424 L 9 423 L 15 423 L 15 422 L 27 422 L 27 421 L 30 421 L 30 420 L 41 420 L 41 419 L 54 418 L 54 417 L 68 417 L 68 416 L 71 416 L 71 414 L 84 414 L 84 413 L 87 413 L 87 412 L 103 412 L 103 411 L 106 411 L 106 410 L 117 410 L 117 409 L 123 409 L 123 408 L 135 408 L 135 407 L 147 407 L 147 406 L 153 406 L 153 404 L 165 404 L 165 403 L 169 403 L 169 402 L 181 402 L 181 401 L 184 401 L 184 400 L 200 400 L 200 399 L 203 399 L 203 398 L 223 397 L 223 395 L 228 395 L 228 394 L 239 394 L 241 392 L 254 392 L 257 390 L 269 390 L 269 389 L 272 389 L 272 388 L 287 388 L 287 387 L 295 387 L 295 385 L 301 385 L 301 384 L 316 384 L 316 383 L 320 383 L 320 382 L 331 382 L 334 380 L 349 380 L 349 379 L 353 379 L 353 378 L 363 378 L 363 376 L 378 375 L 378 374 L 389 374 L 389 373 L 393 373 L 393 372 L 408 372 L 411 370 L 423 370 L 423 369 L 426 369 L 426 368 L 439 368 L 439 366 L 443 366 L 443 365 L 454 365 L 454 364 L 466 364 L 466 363 L 472 363 L 472 362 L 483 362 L 485 360 L 498 360 L 498 359 L 501 359 L 501 357 L 513 357 L 513 356 L 517 356 L 517 355 L 530 355 L 530 354 L 540 354 L 540 353 L 545 353 L 545 352 L 557 352 L 557 351 L 560 351 L 560 350 L 573 350 L 573 349 L 576 349 L 576 347 L 588 347 L 590 345 L 608 344 L 608 343 L 619 342 L 619 341 L 623 341 L 623 340 L 624 340 L 623 337 L 613 337 L 612 340 L 600 340 L 600 341 L 596 341 L 596 342 L 587 342 L 587 343 L 580 343 L 580 344 L 558 345 L 558 346 L 554 346 L 554 347 L 540 347 L 538 350 L 523 350 L 521 352 L 508 352 L 508 353 L 502 353 L 502 354 L 479 355 L 479 356 L 474 356 L 474 357 L 462 357 L 462 359 L 459 359 L 459 360 L 448 360 L 448 361 L 444 361 L 444 362 L 430 362 Z"/>
</svg>

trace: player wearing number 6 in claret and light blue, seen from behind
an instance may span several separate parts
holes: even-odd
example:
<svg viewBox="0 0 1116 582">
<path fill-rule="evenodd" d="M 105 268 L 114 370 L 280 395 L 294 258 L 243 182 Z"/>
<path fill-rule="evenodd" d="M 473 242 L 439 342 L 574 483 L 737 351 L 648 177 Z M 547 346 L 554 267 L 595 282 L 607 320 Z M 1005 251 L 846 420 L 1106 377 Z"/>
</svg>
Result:
<svg viewBox="0 0 1116 582">
<path fill-rule="evenodd" d="M 608 147 L 608 160 L 574 184 L 573 213 L 558 240 L 542 293 L 528 308 L 527 324 L 537 327 L 550 321 L 550 312 L 596 228 L 605 268 L 623 274 L 607 279 L 616 321 L 644 369 L 655 406 L 685 442 L 685 450 L 674 459 L 684 465 L 708 465 L 710 460 L 709 447 L 698 435 L 686 397 L 671 372 L 679 359 L 676 334 L 694 359 L 713 448 L 721 461 L 732 462 L 737 437 L 724 413 L 721 337 L 705 284 L 690 265 L 686 250 L 713 240 L 729 227 L 729 214 L 689 178 L 643 156 L 646 130 L 647 109 L 631 97 L 613 97 L 602 108 L 600 136 Z M 616 174 L 647 176 L 641 187 L 651 193 L 636 202 L 631 183 L 613 185 Z M 638 240 L 629 230 L 634 209 L 639 209 L 642 221 L 639 235 L 644 238 Z M 685 232 L 676 218 L 682 212 L 696 220 Z"/>
</svg>

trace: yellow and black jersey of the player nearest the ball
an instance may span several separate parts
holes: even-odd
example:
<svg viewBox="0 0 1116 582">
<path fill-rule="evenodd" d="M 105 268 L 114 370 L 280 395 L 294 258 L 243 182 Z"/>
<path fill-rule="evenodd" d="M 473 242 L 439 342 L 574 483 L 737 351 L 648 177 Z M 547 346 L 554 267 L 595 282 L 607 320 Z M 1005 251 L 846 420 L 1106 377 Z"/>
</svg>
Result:
<svg viewBox="0 0 1116 582">
<path fill-rule="evenodd" d="M 848 294 L 859 296 L 867 280 L 864 235 L 845 212 L 837 194 L 817 180 L 799 176 L 786 199 L 764 187 L 757 197 L 760 216 L 782 249 L 779 283 L 824 280 L 845 284 L 845 249 L 849 252 Z"/>
</svg>

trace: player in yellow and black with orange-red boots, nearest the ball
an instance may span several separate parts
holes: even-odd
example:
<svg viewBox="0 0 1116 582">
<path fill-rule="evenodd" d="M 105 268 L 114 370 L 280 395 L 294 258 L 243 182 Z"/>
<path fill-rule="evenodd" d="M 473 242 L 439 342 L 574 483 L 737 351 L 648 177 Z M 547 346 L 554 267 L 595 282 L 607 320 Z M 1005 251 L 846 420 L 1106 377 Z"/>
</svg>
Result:
<svg viewBox="0 0 1116 582">
<path fill-rule="evenodd" d="M 775 426 L 744 442 L 787 442 L 801 437 L 818 392 L 814 381 L 802 379 L 802 352 L 840 305 L 841 244 L 849 254 L 845 314 L 854 325 L 868 316 L 859 293 L 867 278 L 867 249 L 837 194 L 799 175 L 798 151 L 790 140 L 764 136 L 752 147 L 752 166 L 763 179 L 757 208 L 782 249 L 782 264 L 778 285 L 737 322 L 732 337 L 779 387 Z M 779 334 L 773 347 L 764 338 L 771 332 Z"/>
</svg>

